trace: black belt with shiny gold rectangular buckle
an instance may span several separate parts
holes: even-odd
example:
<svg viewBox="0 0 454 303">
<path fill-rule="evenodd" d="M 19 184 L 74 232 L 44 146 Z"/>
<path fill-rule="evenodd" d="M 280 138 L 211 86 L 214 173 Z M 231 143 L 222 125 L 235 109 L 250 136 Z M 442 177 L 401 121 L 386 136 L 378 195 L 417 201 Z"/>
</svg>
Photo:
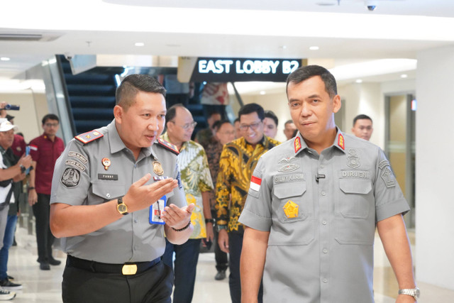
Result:
<svg viewBox="0 0 454 303">
<path fill-rule="evenodd" d="M 150 262 L 138 262 L 138 263 L 125 263 L 125 264 L 108 264 L 100 263 L 96 261 L 84 260 L 68 255 L 66 265 L 72 266 L 73 268 L 79 268 L 81 270 L 88 270 L 91 272 L 103 272 L 103 273 L 118 273 L 123 275 L 135 275 L 140 272 L 144 272 L 150 268 L 153 268 L 157 263 L 160 263 L 161 258 L 155 258 Z"/>
</svg>

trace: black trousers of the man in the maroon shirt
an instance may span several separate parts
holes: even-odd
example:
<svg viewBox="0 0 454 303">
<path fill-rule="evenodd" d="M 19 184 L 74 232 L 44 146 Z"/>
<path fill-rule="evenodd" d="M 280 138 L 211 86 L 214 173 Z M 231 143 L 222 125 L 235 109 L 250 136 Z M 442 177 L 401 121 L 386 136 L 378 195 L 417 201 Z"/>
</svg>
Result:
<svg viewBox="0 0 454 303">
<path fill-rule="evenodd" d="M 33 204 L 36 224 L 36 243 L 38 244 L 38 262 L 49 262 L 52 258 L 52 244 L 55 237 L 49 226 L 50 194 L 38 194 L 38 202 Z"/>
</svg>

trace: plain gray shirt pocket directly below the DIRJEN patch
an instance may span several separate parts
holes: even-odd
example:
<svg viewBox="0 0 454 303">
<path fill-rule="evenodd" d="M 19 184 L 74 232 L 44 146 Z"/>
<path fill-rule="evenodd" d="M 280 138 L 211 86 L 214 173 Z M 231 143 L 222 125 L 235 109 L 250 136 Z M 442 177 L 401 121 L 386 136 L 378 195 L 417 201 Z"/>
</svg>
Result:
<svg viewBox="0 0 454 303">
<path fill-rule="evenodd" d="M 340 179 L 341 196 L 338 211 L 349 219 L 366 219 L 370 212 L 370 180 Z"/>
</svg>

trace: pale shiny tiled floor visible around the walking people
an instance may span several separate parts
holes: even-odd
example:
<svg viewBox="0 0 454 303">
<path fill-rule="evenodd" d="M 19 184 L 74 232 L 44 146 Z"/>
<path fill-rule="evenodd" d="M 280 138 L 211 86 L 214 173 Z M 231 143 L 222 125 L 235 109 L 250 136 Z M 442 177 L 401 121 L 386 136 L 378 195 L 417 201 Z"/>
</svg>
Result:
<svg viewBox="0 0 454 303">
<path fill-rule="evenodd" d="M 18 246 L 10 250 L 9 275 L 16 278 L 16 282 L 23 284 L 13 302 L 16 303 L 56 303 L 62 302 L 61 281 L 65 254 L 55 250 L 54 255 L 62 260 L 62 265 L 52 266 L 51 270 L 39 269 L 36 262 L 35 236 L 28 235 L 25 228 L 18 228 L 16 232 Z M 414 249 L 413 249 L 414 251 Z M 228 279 L 214 280 L 216 269 L 214 267 L 214 254 L 202 253 L 197 265 L 196 286 L 194 290 L 194 303 L 229 303 Z M 376 303 L 393 303 L 397 294 L 392 269 L 389 267 L 383 253 L 380 238 L 375 241 L 375 274 L 374 290 Z M 421 303 L 452 303 L 454 291 L 445 290 L 433 285 L 418 283 L 421 289 Z M 334 303 L 334 302 L 333 302 Z M 341 302 L 343 303 L 343 302 Z M 350 303 L 350 302 L 349 302 Z"/>
</svg>

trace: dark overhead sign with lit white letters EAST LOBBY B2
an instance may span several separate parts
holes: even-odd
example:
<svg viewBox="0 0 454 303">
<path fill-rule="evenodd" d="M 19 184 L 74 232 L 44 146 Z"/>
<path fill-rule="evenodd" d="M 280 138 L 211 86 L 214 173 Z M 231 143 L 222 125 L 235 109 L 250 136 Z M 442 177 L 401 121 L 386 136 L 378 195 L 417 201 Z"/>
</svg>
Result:
<svg viewBox="0 0 454 303">
<path fill-rule="evenodd" d="M 285 82 L 302 66 L 301 59 L 197 58 L 191 81 L 194 82 Z"/>
</svg>

